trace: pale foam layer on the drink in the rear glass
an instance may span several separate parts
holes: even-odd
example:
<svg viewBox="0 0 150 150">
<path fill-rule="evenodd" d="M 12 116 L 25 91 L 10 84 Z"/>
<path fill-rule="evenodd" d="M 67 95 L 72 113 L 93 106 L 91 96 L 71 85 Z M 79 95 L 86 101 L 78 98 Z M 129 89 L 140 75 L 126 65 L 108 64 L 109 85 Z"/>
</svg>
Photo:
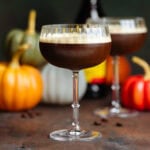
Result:
<svg viewBox="0 0 150 150">
<path fill-rule="evenodd" d="M 111 34 L 140 34 L 146 33 L 146 27 L 135 27 L 134 25 L 109 25 L 109 31 Z"/>
</svg>

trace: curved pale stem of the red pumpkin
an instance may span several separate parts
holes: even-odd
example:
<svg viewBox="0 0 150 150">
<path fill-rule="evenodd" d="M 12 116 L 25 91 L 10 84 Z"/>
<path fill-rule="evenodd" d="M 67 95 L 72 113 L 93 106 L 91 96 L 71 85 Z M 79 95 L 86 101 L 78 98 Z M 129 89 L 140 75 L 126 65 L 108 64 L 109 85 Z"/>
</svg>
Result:
<svg viewBox="0 0 150 150">
<path fill-rule="evenodd" d="M 132 61 L 134 63 L 138 64 L 139 66 L 141 66 L 144 69 L 144 72 L 145 72 L 144 79 L 145 80 L 149 80 L 150 79 L 150 67 L 149 67 L 149 64 L 145 60 L 143 60 L 143 59 L 141 59 L 141 58 L 139 58 L 137 56 L 133 56 L 132 57 Z"/>
</svg>

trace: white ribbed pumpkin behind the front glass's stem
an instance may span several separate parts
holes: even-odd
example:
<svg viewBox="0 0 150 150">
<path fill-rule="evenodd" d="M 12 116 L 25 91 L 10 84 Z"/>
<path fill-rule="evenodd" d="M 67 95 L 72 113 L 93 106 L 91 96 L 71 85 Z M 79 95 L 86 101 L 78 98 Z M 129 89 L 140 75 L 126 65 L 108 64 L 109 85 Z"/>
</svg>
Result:
<svg viewBox="0 0 150 150">
<path fill-rule="evenodd" d="M 41 70 L 44 92 L 43 103 L 66 105 L 73 102 L 72 72 L 51 64 Z M 79 100 L 86 92 L 87 84 L 83 71 L 79 72 Z"/>
</svg>

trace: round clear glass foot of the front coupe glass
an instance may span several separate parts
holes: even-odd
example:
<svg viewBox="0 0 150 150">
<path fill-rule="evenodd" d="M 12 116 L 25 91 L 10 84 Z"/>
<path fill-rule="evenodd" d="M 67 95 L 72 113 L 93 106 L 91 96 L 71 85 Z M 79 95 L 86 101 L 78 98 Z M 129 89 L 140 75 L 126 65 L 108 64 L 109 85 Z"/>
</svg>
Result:
<svg viewBox="0 0 150 150">
<path fill-rule="evenodd" d="M 57 130 L 49 134 L 49 137 L 57 141 L 92 141 L 102 137 L 97 131 L 74 131 L 74 130 Z"/>
</svg>

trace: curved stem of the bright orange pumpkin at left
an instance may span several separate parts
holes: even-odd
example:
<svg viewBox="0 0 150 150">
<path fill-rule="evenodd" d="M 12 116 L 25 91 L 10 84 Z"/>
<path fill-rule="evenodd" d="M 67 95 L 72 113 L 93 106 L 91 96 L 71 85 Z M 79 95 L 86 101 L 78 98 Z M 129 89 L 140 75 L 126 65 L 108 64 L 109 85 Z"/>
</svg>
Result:
<svg viewBox="0 0 150 150">
<path fill-rule="evenodd" d="M 14 54 L 12 61 L 10 63 L 11 67 L 19 67 L 19 60 L 21 55 L 23 54 L 23 52 L 25 50 L 27 50 L 29 48 L 29 44 L 22 44 L 18 47 L 18 50 L 16 51 L 16 53 Z"/>
</svg>

